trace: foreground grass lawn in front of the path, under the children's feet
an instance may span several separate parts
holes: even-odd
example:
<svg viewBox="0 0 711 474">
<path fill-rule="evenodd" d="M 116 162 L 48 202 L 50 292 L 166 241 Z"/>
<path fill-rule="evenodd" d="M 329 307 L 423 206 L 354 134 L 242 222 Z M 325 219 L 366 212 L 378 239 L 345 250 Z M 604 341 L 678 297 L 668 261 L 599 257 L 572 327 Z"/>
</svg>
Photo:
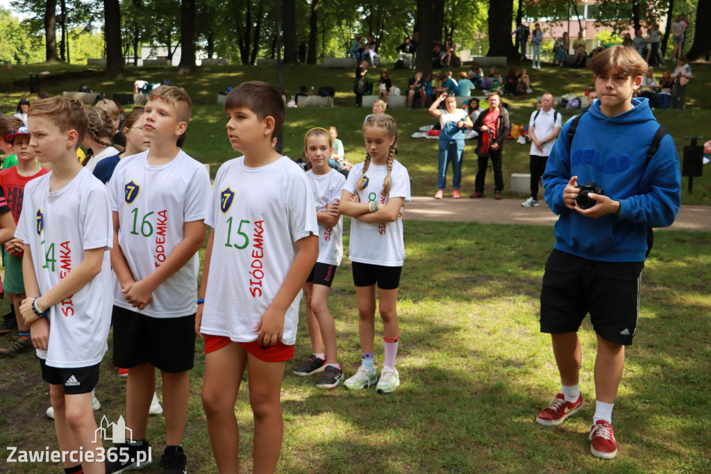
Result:
<svg viewBox="0 0 711 474">
<path fill-rule="evenodd" d="M 349 228 L 348 219 L 346 229 Z M 639 331 L 627 352 L 616 400 L 619 455 L 589 454 L 594 413 L 595 337 L 583 346 L 584 409 L 558 428 L 534 421 L 560 381 L 550 337 L 538 331 L 543 264 L 550 227 L 407 221 L 407 262 L 398 312 L 402 331 L 394 394 L 323 391 L 316 377 L 291 371 L 311 352 L 306 323 L 282 390 L 282 473 L 584 472 L 702 473 L 711 470 L 711 246 L 706 233 L 661 231 L 646 264 Z M 346 232 L 347 233 L 347 232 Z M 346 248 L 348 236 L 344 238 Z M 330 307 L 339 359 L 350 376 L 360 364 L 358 315 L 350 265 L 338 270 Z M 0 303 L 0 314 L 7 310 Z M 303 315 L 303 307 L 302 312 Z M 376 323 L 376 333 L 382 325 Z M 6 337 L 2 342 L 6 342 Z M 110 344 L 109 344 L 110 347 Z M 192 472 L 213 473 L 200 390 L 203 344 L 196 346 L 184 446 Z M 375 342 L 382 367 L 383 343 Z M 115 421 L 125 414 L 125 380 L 102 364 L 97 396 Z M 160 381 L 159 381 L 160 385 Z M 242 385 L 245 389 L 247 384 Z M 48 388 L 31 354 L 0 359 L 0 446 L 56 446 L 44 416 Z M 246 390 L 235 406 L 242 468 L 251 468 L 253 423 Z M 99 418 L 100 419 L 100 418 Z M 161 453 L 164 418 L 149 421 L 149 441 Z M 5 448 L 3 448 L 5 449 Z M 0 472 L 50 473 L 57 466 L 9 465 Z M 157 473 L 151 466 L 144 472 Z"/>
</svg>

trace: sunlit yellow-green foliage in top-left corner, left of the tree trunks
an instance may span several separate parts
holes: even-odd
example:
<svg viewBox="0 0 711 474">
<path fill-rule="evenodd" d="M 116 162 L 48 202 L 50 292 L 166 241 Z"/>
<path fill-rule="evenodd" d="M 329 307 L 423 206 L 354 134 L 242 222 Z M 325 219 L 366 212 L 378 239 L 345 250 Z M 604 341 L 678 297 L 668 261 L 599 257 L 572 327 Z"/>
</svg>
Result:
<svg viewBox="0 0 711 474">
<path fill-rule="evenodd" d="M 32 32 L 26 22 L 20 22 L 9 10 L 0 6 L 0 62 L 13 64 L 40 63 L 44 60 L 43 38 Z"/>
</svg>

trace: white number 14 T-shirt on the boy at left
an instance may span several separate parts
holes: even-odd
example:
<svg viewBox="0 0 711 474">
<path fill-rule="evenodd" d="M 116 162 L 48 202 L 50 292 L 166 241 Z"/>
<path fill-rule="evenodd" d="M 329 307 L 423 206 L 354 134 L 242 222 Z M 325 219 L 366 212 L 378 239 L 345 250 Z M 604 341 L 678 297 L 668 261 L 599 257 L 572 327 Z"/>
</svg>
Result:
<svg viewBox="0 0 711 474">
<path fill-rule="evenodd" d="M 111 325 L 111 211 L 106 187 L 88 169 L 58 191 L 52 173 L 25 187 L 15 236 L 31 248 L 41 295 L 84 260 L 84 251 L 104 248 L 101 273 L 81 290 L 48 308 L 49 342 L 37 357 L 50 367 L 89 367 L 104 357 Z"/>
</svg>

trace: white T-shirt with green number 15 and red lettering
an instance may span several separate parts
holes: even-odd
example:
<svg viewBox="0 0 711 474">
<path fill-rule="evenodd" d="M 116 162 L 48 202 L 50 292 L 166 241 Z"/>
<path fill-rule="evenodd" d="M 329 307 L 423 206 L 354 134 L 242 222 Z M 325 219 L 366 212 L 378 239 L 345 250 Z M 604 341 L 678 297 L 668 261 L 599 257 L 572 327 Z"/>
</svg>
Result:
<svg viewBox="0 0 711 474">
<path fill-rule="evenodd" d="M 214 229 L 201 332 L 235 342 L 253 330 L 284 284 L 296 241 L 318 235 L 306 173 L 288 157 L 263 167 L 230 159 L 218 170 L 205 223 Z M 296 342 L 301 292 L 284 314 L 282 342 Z"/>
</svg>

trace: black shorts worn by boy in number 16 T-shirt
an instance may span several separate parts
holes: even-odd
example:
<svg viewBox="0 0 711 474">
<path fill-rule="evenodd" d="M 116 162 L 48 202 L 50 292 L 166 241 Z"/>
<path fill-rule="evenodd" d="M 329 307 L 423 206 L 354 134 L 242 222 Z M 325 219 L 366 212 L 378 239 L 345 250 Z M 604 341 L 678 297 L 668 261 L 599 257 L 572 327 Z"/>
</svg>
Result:
<svg viewBox="0 0 711 474">
<path fill-rule="evenodd" d="M 163 372 L 178 374 L 193 368 L 195 315 L 151 317 L 115 306 L 114 365 L 131 369 L 151 364 Z"/>
</svg>

